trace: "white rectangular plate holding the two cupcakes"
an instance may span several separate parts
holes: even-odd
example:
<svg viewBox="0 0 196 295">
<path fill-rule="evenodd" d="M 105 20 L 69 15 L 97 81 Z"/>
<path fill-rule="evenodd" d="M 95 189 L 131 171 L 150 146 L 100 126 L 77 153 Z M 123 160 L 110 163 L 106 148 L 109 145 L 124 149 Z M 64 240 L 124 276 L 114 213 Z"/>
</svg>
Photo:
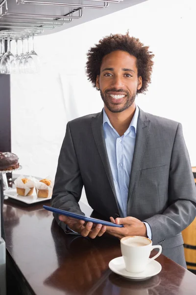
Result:
<svg viewBox="0 0 196 295">
<path fill-rule="evenodd" d="M 16 188 L 4 190 L 3 193 L 5 196 L 7 196 L 9 198 L 21 201 L 26 204 L 34 204 L 34 203 L 39 203 L 39 202 L 43 202 L 43 201 L 47 201 L 47 200 L 51 199 L 51 197 L 38 198 L 36 195 L 35 189 L 33 190 L 33 194 L 31 196 L 26 196 L 26 197 L 22 197 L 22 196 L 18 195 L 16 192 Z"/>
</svg>

